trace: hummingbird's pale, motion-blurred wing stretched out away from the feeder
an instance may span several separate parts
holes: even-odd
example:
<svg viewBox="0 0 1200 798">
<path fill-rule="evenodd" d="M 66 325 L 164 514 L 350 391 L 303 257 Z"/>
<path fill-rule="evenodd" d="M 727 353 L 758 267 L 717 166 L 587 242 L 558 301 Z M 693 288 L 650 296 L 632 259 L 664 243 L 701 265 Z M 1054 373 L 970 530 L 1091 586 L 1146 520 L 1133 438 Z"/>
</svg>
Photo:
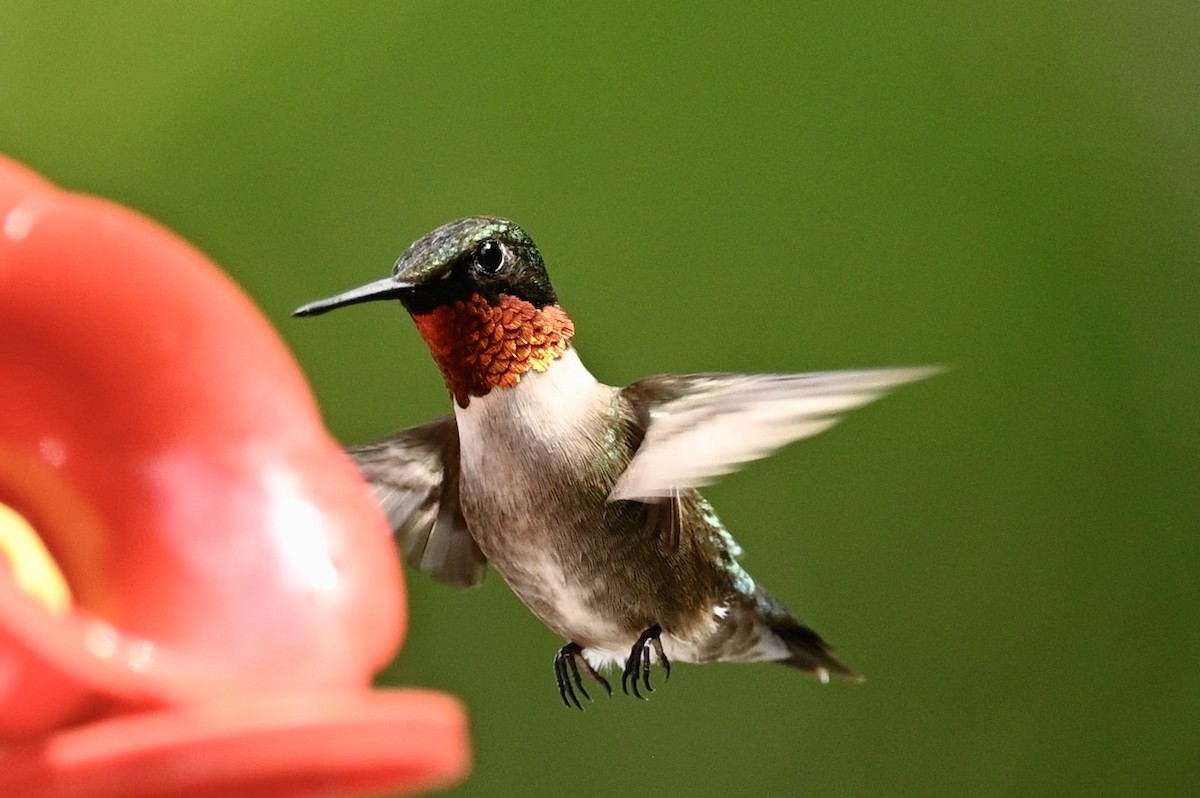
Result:
<svg viewBox="0 0 1200 798">
<path fill-rule="evenodd" d="M 624 389 L 646 436 L 610 500 L 652 500 L 713 482 L 941 368 L 810 374 L 664 374 Z"/>
</svg>

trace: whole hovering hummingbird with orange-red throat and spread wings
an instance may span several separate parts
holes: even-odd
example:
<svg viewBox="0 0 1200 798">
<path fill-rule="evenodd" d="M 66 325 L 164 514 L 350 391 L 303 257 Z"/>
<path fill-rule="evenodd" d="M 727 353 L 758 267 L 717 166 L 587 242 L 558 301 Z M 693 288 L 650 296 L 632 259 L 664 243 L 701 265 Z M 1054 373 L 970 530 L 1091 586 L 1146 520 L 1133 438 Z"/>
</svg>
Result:
<svg viewBox="0 0 1200 798">
<path fill-rule="evenodd" d="M 490 563 L 565 644 L 564 704 L 581 671 L 653 691 L 652 665 L 781 662 L 858 679 L 739 564 L 697 488 L 936 368 L 697 373 L 599 382 L 576 352 L 541 253 L 514 222 L 460 218 L 415 241 L 391 275 L 295 316 L 378 300 L 408 311 L 454 414 L 347 451 L 404 559 L 442 582 Z"/>
</svg>

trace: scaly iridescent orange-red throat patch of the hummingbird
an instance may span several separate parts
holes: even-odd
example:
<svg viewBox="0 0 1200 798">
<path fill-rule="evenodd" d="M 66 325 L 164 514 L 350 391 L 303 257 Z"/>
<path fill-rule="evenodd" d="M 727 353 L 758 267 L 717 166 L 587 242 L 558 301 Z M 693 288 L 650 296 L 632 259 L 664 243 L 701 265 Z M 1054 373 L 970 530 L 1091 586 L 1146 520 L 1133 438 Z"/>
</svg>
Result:
<svg viewBox="0 0 1200 798">
<path fill-rule="evenodd" d="M 413 320 L 460 407 L 493 388 L 512 388 L 527 371 L 546 371 L 575 335 L 558 305 L 539 310 L 508 294 L 498 305 L 476 294 Z"/>
</svg>

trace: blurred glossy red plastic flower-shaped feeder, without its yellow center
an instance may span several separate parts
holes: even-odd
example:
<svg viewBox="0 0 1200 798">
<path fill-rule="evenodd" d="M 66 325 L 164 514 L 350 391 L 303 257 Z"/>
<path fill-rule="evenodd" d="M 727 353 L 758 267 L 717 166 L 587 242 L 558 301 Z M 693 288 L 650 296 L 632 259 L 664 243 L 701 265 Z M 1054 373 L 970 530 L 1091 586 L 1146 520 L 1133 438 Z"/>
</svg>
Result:
<svg viewBox="0 0 1200 798">
<path fill-rule="evenodd" d="M 278 336 L 210 262 L 0 157 L 0 503 L 73 604 L 0 558 L 0 794 L 420 790 L 452 698 L 372 691 L 403 583 Z"/>
</svg>

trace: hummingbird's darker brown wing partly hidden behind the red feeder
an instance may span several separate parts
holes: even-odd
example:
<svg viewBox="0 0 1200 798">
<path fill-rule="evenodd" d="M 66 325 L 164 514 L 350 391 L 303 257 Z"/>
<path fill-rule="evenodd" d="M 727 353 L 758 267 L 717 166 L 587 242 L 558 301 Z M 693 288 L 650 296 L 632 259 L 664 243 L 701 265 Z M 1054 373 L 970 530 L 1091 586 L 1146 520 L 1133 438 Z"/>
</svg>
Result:
<svg viewBox="0 0 1200 798">
<path fill-rule="evenodd" d="M 487 558 L 458 508 L 458 426 L 452 415 L 347 452 L 374 487 L 409 565 L 457 587 L 484 580 Z"/>
</svg>

